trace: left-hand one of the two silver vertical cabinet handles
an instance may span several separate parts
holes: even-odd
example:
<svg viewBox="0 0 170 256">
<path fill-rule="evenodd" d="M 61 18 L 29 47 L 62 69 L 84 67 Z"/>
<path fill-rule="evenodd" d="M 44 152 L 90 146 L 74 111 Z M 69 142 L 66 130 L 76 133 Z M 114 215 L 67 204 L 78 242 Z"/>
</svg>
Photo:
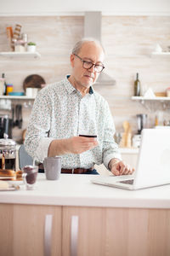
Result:
<svg viewBox="0 0 170 256">
<path fill-rule="evenodd" d="M 51 233 L 52 233 L 53 215 L 47 214 L 45 216 L 45 229 L 44 229 L 44 255 L 51 255 Z"/>
</svg>

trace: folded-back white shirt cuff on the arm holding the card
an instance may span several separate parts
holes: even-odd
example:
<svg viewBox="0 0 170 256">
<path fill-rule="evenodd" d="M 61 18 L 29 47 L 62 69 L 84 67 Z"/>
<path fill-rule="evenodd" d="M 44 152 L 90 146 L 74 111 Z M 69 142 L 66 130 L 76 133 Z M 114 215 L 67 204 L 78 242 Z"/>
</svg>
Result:
<svg viewBox="0 0 170 256">
<path fill-rule="evenodd" d="M 42 163 L 44 158 L 48 157 L 48 148 L 52 141 L 54 141 L 54 138 L 50 138 L 50 137 L 41 138 L 35 154 L 37 156 L 36 160 Z"/>
</svg>

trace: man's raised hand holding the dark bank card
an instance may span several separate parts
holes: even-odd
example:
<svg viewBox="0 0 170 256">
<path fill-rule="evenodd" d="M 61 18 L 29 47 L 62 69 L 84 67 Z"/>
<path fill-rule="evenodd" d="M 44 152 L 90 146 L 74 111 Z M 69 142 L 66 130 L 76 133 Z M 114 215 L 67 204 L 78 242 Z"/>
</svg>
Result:
<svg viewBox="0 0 170 256">
<path fill-rule="evenodd" d="M 71 137 L 65 139 L 65 148 L 67 153 L 81 154 L 98 145 L 95 137 Z"/>
</svg>

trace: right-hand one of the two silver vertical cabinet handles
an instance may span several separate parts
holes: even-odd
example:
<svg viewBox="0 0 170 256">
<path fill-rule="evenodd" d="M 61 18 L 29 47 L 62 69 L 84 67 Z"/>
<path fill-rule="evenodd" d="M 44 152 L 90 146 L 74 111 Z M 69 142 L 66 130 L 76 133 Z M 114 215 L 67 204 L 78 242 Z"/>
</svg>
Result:
<svg viewBox="0 0 170 256">
<path fill-rule="evenodd" d="M 77 256 L 78 216 L 71 216 L 71 256 Z"/>
</svg>

